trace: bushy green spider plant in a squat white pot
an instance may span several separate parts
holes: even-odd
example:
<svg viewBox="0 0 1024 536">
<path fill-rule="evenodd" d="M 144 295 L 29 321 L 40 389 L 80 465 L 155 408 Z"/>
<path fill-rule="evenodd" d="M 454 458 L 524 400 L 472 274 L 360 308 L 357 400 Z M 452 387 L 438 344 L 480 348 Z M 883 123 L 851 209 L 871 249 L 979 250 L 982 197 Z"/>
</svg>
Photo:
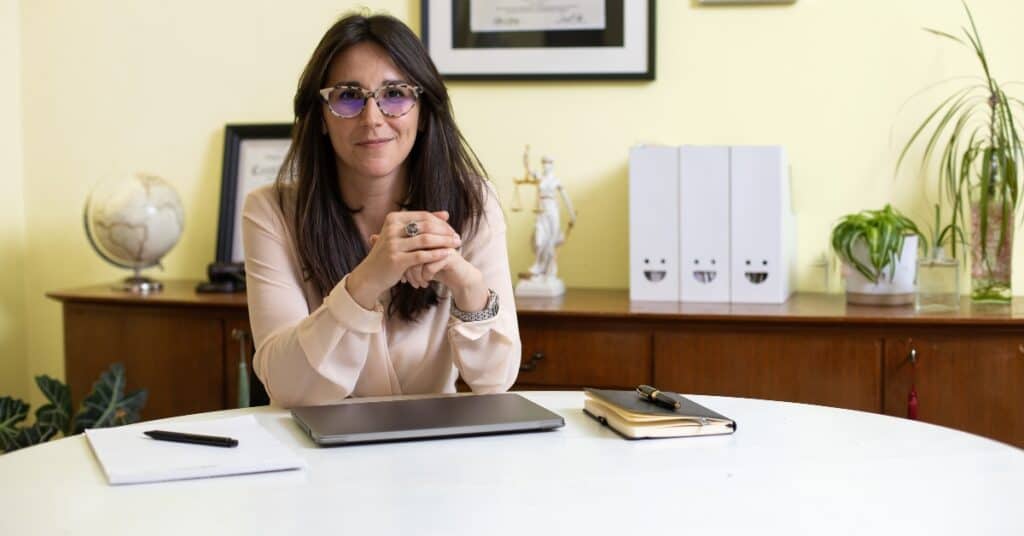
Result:
<svg viewBox="0 0 1024 536">
<path fill-rule="evenodd" d="M 918 225 L 891 205 L 843 216 L 833 228 L 831 247 L 843 261 L 846 300 L 864 305 L 913 303 L 921 236 Z"/>
</svg>

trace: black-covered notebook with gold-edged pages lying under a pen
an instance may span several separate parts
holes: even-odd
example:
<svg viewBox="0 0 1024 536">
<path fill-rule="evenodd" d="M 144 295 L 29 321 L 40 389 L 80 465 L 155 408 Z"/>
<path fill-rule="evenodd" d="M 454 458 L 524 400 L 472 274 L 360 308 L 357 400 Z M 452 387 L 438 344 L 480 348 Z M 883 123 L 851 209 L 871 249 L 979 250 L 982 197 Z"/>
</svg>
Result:
<svg viewBox="0 0 1024 536">
<path fill-rule="evenodd" d="M 720 436 L 736 431 L 736 421 L 681 395 L 665 393 L 678 409 L 653 404 L 635 390 L 584 389 L 583 410 L 627 439 Z"/>
</svg>

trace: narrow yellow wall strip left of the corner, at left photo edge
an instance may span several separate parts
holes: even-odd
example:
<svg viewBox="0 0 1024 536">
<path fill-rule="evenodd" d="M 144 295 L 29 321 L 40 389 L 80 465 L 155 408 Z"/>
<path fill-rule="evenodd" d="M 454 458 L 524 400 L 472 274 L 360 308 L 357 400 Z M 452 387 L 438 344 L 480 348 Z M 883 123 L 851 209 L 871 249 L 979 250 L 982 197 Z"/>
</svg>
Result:
<svg viewBox="0 0 1024 536">
<path fill-rule="evenodd" d="M 0 0 L 0 397 L 25 398 L 25 195 L 17 0 Z"/>
</svg>

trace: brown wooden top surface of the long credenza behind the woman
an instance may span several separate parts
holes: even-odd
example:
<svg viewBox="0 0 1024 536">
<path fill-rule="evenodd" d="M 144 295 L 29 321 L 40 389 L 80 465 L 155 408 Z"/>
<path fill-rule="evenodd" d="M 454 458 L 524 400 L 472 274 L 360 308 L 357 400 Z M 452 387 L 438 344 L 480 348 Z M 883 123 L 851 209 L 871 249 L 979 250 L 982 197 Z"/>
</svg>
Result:
<svg viewBox="0 0 1024 536">
<path fill-rule="evenodd" d="M 197 281 L 164 281 L 164 291 L 137 295 L 94 285 L 47 293 L 63 302 L 246 308 L 245 293 L 200 294 Z M 956 313 L 916 313 L 912 306 L 849 305 L 840 294 L 797 293 L 782 304 L 630 301 L 620 289 L 568 289 L 556 298 L 516 298 L 520 316 L 531 318 L 647 319 L 695 322 L 802 324 L 986 325 L 1024 327 L 1024 296 L 1011 304 L 972 303 Z"/>
</svg>

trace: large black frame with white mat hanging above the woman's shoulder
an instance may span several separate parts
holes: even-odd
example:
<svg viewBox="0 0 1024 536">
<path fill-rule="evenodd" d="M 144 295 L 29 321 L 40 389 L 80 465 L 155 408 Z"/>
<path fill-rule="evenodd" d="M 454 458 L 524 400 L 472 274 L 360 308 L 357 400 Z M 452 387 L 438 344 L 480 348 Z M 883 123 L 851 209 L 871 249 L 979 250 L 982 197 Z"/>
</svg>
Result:
<svg viewBox="0 0 1024 536">
<path fill-rule="evenodd" d="M 421 0 L 447 80 L 654 80 L 654 0 Z"/>
</svg>

